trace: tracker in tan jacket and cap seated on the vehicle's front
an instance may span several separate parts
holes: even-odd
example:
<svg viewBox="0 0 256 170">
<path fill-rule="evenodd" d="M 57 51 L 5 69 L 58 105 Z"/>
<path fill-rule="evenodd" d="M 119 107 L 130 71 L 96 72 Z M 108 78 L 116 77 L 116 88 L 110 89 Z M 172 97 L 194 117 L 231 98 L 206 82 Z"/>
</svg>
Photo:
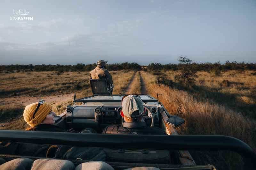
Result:
<svg viewBox="0 0 256 170">
<path fill-rule="evenodd" d="M 114 81 L 112 79 L 111 74 L 109 73 L 109 71 L 106 69 L 106 63 L 108 61 L 104 61 L 104 60 L 99 60 L 97 62 L 97 67 L 92 70 L 90 72 L 90 79 L 101 79 L 101 78 L 106 78 L 107 80 L 107 84 L 110 85 L 110 91 L 112 94 L 113 88 L 114 88 Z"/>
</svg>

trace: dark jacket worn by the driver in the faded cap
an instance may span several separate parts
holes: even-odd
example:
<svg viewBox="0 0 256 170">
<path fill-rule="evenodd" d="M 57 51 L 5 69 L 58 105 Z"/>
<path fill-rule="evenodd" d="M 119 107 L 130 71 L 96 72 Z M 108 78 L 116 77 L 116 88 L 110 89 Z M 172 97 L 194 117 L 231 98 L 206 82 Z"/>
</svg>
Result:
<svg viewBox="0 0 256 170">
<path fill-rule="evenodd" d="M 158 127 L 147 127 L 146 122 L 124 122 L 123 126 L 109 125 L 102 131 L 103 134 L 132 134 L 132 135 L 167 135 Z"/>
</svg>

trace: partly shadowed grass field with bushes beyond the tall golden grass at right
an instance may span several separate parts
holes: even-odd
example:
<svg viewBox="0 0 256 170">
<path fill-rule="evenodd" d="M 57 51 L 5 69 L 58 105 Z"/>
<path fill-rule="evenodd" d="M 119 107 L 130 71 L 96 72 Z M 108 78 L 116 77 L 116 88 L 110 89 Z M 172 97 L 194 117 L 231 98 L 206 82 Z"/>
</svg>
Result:
<svg viewBox="0 0 256 170">
<path fill-rule="evenodd" d="M 174 81 L 175 71 L 164 72 Z M 256 119 L 256 76 L 252 71 L 237 73 L 228 71 L 221 76 L 204 71 L 198 72 L 194 85 L 190 87 L 173 83 L 173 87 L 193 94 L 197 100 L 211 100 L 237 110 L 243 115 Z"/>
</svg>

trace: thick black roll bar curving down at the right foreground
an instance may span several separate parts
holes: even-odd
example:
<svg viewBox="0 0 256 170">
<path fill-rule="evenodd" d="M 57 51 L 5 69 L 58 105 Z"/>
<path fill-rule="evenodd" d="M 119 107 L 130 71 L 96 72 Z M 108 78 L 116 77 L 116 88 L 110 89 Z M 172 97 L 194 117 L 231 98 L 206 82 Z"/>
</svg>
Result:
<svg viewBox="0 0 256 170">
<path fill-rule="evenodd" d="M 116 149 L 229 150 L 244 159 L 244 169 L 254 170 L 256 152 L 243 141 L 228 136 L 115 135 L 44 131 L 0 130 L 1 142 L 86 146 Z M 136 144 L 135 144 L 136 143 Z"/>
</svg>

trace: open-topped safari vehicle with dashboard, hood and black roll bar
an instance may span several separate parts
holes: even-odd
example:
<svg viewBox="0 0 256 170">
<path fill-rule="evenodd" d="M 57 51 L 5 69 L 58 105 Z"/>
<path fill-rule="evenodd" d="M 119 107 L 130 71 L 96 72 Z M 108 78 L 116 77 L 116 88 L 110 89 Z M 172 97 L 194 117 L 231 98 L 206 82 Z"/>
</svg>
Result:
<svg viewBox="0 0 256 170">
<path fill-rule="evenodd" d="M 92 96 L 82 99 L 74 97 L 74 105 L 67 106 L 66 112 L 56 116 L 55 125 L 64 129 L 93 128 L 98 133 L 111 124 L 121 125 L 121 99 L 124 96 L 97 92 L 92 85 Z M 98 94 L 97 94 L 98 93 Z M 104 93 L 104 94 L 99 94 Z M 164 129 L 168 135 L 115 135 L 60 133 L 43 131 L 0 130 L 0 141 L 33 143 L 46 145 L 64 145 L 81 147 L 99 147 L 107 150 L 106 163 L 115 170 L 132 167 L 153 166 L 159 169 L 211 169 L 211 165 L 196 165 L 188 150 L 230 150 L 239 153 L 244 159 L 244 169 L 255 169 L 256 153 L 244 142 L 227 136 L 181 136 L 175 127 L 184 121 L 169 115 L 162 103 L 148 94 L 140 94 L 146 108 L 143 115 L 148 126 Z M 79 103 L 79 104 L 78 104 Z M 104 151 L 106 151 L 104 150 Z M 131 151 L 136 150 L 134 154 Z M 163 151 L 158 152 L 157 151 Z M 129 156 L 130 154 L 130 156 Z M 27 157 L 32 160 L 40 157 L 19 155 L 0 155 L 7 161 Z M 70 159 L 69 159 L 70 160 Z M 89 160 L 70 160 L 76 166 Z"/>
</svg>

